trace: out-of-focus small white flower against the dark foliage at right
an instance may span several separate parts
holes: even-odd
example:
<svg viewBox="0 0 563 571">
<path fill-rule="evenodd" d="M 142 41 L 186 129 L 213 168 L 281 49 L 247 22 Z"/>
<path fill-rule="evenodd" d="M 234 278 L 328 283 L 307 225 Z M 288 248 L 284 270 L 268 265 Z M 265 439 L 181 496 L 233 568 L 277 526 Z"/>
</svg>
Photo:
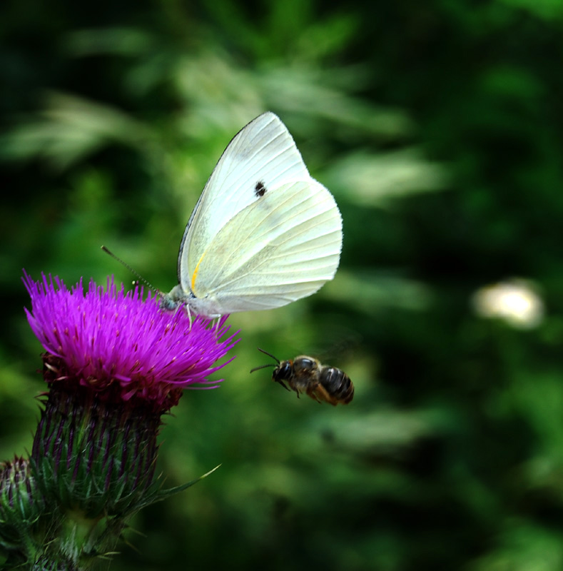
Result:
<svg viewBox="0 0 563 571">
<path fill-rule="evenodd" d="M 499 318 L 515 328 L 536 327 L 544 317 L 542 298 L 522 279 L 485 285 L 475 292 L 472 302 L 480 317 Z"/>
</svg>

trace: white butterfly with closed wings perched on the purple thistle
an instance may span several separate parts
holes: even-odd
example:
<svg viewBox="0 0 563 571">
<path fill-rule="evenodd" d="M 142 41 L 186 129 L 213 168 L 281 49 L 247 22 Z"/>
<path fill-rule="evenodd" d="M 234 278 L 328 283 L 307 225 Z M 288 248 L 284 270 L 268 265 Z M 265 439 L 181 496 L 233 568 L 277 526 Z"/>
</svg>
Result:
<svg viewBox="0 0 563 571">
<path fill-rule="evenodd" d="M 332 279 L 342 218 L 311 178 L 288 129 L 263 113 L 230 141 L 180 244 L 178 282 L 161 307 L 199 315 L 278 308 Z"/>
</svg>

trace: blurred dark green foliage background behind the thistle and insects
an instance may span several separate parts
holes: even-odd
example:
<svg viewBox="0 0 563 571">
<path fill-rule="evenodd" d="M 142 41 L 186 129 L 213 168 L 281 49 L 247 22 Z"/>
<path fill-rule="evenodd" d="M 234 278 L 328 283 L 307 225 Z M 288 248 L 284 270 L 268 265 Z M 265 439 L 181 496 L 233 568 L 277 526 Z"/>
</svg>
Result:
<svg viewBox="0 0 563 571">
<path fill-rule="evenodd" d="M 215 162 L 268 109 L 343 213 L 334 281 L 231 316 L 237 358 L 166 419 L 159 468 L 223 465 L 140 512 L 112 570 L 563 568 L 559 0 L 0 10 L 0 458 L 44 390 L 21 268 L 131 283 L 105 244 L 171 289 Z M 258 346 L 355 399 L 250 375 Z"/>
</svg>

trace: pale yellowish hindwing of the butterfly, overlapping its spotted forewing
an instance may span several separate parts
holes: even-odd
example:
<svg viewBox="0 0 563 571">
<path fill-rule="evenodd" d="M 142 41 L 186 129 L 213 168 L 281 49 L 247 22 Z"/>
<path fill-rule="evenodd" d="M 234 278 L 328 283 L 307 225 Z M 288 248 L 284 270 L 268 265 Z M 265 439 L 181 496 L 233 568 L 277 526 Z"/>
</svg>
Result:
<svg viewBox="0 0 563 571">
<path fill-rule="evenodd" d="M 313 179 L 287 183 L 220 229 L 198 261 L 193 293 L 230 312 L 279 307 L 333 278 L 341 246 L 330 192 Z"/>
</svg>

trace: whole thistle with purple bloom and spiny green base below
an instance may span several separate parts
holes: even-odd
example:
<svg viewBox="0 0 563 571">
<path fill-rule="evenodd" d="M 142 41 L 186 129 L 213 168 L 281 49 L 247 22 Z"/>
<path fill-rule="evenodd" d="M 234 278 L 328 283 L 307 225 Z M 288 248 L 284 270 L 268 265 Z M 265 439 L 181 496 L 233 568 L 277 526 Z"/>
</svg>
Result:
<svg viewBox="0 0 563 571">
<path fill-rule="evenodd" d="M 208 376 L 230 362 L 215 364 L 236 334 L 228 335 L 226 317 L 163 311 L 155 295 L 118 290 L 113 278 L 106 288 L 91 281 L 86 292 L 82 281 L 69 289 L 44 274 L 35 282 L 24 272 L 23 281 L 49 390 L 24 474 L 39 513 L 14 549 L 40 561 L 37 569 L 61 557 L 68 565 L 52 568 L 85 569 L 113 550 L 128 517 L 174 490 L 162 491 L 155 476 L 161 416 L 184 389 L 218 386 Z M 11 496 L 0 496 L 10 507 Z M 6 541 L 13 535 L 0 525 L 0 547 L 3 529 Z"/>
</svg>

